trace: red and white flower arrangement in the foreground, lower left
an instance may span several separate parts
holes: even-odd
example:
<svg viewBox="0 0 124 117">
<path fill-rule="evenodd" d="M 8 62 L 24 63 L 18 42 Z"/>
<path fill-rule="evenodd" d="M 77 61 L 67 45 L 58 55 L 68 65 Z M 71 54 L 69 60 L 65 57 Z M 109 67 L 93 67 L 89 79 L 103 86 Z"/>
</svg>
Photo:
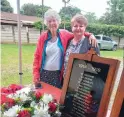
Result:
<svg viewBox="0 0 124 117">
<path fill-rule="evenodd" d="M 2 117 L 60 117 L 60 105 L 51 94 L 42 94 L 30 87 L 7 95 L 1 103 Z"/>
</svg>

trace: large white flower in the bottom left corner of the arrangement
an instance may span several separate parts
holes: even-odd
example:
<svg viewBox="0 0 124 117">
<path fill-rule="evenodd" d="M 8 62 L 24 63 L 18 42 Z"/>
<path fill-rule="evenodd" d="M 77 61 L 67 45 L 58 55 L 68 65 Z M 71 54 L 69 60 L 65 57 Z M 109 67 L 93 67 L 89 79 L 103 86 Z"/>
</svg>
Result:
<svg viewBox="0 0 124 117">
<path fill-rule="evenodd" d="M 12 108 L 10 108 L 8 111 L 5 111 L 3 113 L 4 117 L 16 117 L 17 111 L 21 109 L 21 106 L 15 105 Z"/>
</svg>

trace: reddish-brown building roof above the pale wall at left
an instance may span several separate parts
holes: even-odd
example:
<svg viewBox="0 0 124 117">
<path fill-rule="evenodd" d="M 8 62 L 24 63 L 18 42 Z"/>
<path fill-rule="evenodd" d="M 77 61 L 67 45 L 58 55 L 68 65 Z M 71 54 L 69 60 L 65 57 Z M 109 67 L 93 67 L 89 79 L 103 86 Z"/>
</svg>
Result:
<svg viewBox="0 0 124 117">
<path fill-rule="evenodd" d="M 18 14 L 1 12 L 0 22 L 5 24 L 17 24 L 18 22 L 17 16 Z M 23 24 L 32 25 L 34 22 L 40 21 L 41 18 L 36 16 L 27 16 L 27 15 L 20 14 L 20 20 Z"/>
</svg>

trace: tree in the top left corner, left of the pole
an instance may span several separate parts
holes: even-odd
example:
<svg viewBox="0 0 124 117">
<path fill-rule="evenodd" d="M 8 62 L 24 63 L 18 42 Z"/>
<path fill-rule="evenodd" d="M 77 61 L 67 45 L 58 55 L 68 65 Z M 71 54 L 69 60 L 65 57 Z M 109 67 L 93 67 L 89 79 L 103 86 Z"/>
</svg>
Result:
<svg viewBox="0 0 124 117">
<path fill-rule="evenodd" d="M 1 11 L 13 13 L 13 8 L 7 0 L 1 0 Z"/>
</svg>

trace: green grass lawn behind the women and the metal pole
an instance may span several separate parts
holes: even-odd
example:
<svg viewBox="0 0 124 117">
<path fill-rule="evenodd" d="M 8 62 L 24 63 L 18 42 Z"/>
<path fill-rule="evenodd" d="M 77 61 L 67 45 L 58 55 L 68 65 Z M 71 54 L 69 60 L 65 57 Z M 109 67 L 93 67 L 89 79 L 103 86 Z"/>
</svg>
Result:
<svg viewBox="0 0 124 117">
<path fill-rule="evenodd" d="M 32 63 L 35 45 L 22 45 L 22 83 L 32 83 Z M 102 57 L 122 59 L 123 51 L 101 51 Z M 19 84 L 18 45 L 1 45 L 1 86 Z"/>
</svg>

